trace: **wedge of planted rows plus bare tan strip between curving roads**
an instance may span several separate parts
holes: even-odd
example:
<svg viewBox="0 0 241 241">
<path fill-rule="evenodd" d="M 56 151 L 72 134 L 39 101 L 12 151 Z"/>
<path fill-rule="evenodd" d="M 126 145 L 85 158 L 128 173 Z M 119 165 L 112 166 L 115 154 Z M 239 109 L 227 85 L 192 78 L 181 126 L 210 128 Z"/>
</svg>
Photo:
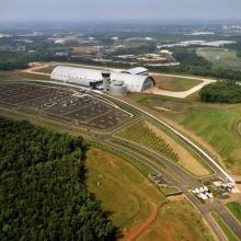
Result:
<svg viewBox="0 0 241 241">
<path fill-rule="evenodd" d="M 124 139 L 140 144 L 144 147 L 157 151 L 196 176 L 210 174 L 204 161 L 197 160 L 182 145 L 176 142 L 151 122 L 141 120 L 120 130 L 117 135 Z"/>
</svg>

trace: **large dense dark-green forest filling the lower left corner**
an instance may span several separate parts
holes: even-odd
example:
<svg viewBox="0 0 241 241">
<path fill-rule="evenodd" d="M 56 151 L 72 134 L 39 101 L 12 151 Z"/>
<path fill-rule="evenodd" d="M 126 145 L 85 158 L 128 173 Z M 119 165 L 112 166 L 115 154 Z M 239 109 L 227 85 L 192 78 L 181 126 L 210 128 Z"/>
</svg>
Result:
<svg viewBox="0 0 241 241">
<path fill-rule="evenodd" d="M 81 137 L 0 117 L 0 240 L 113 240 L 88 192 Z"/>
</svg>

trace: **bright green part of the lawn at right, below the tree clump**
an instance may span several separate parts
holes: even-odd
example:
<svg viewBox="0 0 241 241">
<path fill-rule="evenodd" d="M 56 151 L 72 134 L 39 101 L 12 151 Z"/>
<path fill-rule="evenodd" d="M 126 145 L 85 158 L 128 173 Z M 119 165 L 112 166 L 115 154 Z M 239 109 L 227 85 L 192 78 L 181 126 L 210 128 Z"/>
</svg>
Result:
<svg viewBox="0 0 241 241">
<path fill-rule="evenodd" d="M 180 123 L 204 138 L 222 157 L 233 174 L 241 174 L 241 138 L 237 124 L 241 105 L 232 108 L 196 107 L 180 117 Z"/>
</svg>

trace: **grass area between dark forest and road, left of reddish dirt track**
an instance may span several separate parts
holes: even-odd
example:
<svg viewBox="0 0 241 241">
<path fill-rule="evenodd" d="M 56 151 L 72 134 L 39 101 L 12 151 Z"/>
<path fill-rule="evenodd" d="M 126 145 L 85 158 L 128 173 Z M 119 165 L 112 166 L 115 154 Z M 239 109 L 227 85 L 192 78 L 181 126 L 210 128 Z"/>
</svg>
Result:
<svg viewBox="0 0 241 241">
<path fill-rule="evenodd" d="M 88 187 L 111 211 L 111 219 L 120 229 L 135 229 L 164 196 L 131 164 L 101 149 L 88 152 Z"/>
</svg>

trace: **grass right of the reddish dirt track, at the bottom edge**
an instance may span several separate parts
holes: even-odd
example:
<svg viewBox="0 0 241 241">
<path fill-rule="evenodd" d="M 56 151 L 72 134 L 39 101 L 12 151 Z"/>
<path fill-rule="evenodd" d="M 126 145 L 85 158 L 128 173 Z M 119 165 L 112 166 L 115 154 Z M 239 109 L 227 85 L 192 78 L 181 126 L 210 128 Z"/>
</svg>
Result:
<svg viewBox="0 0 241 241">
<path fill-rule="evenodd" d="M 137 239 L 151 240 L 214 240 L 202 216 L 185 200 L 177 200 L 159 209 L 149 230 Z"/>
</svg>

